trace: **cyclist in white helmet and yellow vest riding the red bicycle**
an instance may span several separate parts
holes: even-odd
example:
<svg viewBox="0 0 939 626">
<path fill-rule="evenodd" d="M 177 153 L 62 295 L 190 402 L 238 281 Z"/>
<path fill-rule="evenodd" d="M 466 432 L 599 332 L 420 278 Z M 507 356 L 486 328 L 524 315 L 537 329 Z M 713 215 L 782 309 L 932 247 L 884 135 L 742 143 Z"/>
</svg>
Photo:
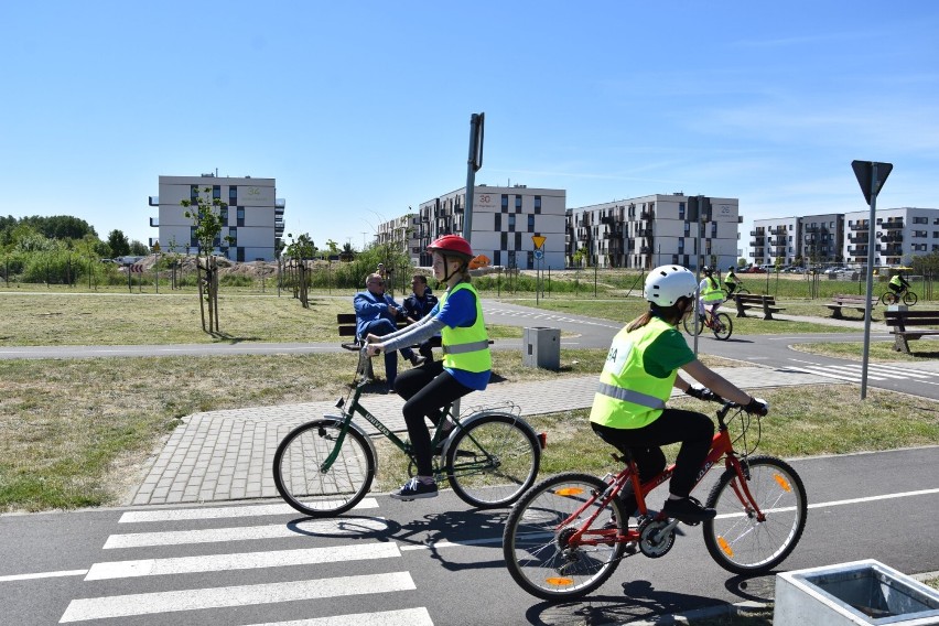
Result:
<svg viewBox="0 0 939 626">
<path fill-rule="evenodd" d="M 590 413 L 597 436 L 633 454 L 640 482 L 665 470 L 660 445 L 681 442 L 662 512 L 686 524 L 715 515 L 714 509 L 704 508 L 690 496 L 708 456 L 714 424 L 703 413 L 666 408 L 672 387 L 702 400 L 715 400 L 716 393 L 760 415 L 768 410 L 765 400 L 752 398 L 702 365 L 676 328 L 694 309 L 697 288 L 694 274 L 680 266 L 662 266 L 649 272 L 643 291 L 649 310 L 613 338 Z M 704 388 L 692 387 L 678 376 L 679 368 Z M 627 488 L 620 497 L 625 510 L 632 512 L 636 498 L 630 484 Z"/>
</svg>

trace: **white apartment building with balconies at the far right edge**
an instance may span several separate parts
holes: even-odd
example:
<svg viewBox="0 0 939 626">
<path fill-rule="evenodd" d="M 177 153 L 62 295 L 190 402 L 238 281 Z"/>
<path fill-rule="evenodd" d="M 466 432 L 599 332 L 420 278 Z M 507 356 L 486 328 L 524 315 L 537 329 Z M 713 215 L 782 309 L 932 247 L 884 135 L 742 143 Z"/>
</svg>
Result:
<svg viewBox="0 0 939 626">
<path fill-rule="evenodd" d="M 867 262 L 872 234 L 875 266 L 905 265 L 917 255 L 939 251 L 939 208 L 877 209 L 874 228 L 870 211 L 846 213 L 844 220 L 844 259 L 849 263 Z"/>
</svg>

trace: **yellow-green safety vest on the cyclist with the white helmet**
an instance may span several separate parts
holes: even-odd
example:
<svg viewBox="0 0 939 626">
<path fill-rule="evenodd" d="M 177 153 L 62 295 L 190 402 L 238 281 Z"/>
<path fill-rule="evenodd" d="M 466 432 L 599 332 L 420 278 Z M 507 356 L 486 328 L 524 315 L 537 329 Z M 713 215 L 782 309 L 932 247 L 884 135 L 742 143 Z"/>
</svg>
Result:
<svg viewBox="0 0 939 626">
<path fill-rule="evenodd" d="M 646 348 L 666 331 L 668 322 L 652 317 L 641 328 L 619 331 L 613 338 L 600 374 L 590 421 L 614 429 L 638 429 L 662 414 L 678 370 L 656 378 L 643 367 Z"/>
</svg>

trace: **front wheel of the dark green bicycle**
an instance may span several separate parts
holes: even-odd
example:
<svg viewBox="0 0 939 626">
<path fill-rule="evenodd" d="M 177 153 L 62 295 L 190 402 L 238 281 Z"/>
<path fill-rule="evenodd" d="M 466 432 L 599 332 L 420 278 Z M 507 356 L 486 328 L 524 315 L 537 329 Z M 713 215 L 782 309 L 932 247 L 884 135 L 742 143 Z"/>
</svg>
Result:
<svg viewBox="0 0 939 626">
<path fill-rule="evenodd" d="M 290 431 L 277 447 L 274 485 L 293 508 L 311 517 L 345 512 L 365 497 L 375 477 L 371 446 L 356 430 L 347 430 L 335 462 L 321 464 L 336 446 L 342 423 L 314 420 Z"/>
</svg>

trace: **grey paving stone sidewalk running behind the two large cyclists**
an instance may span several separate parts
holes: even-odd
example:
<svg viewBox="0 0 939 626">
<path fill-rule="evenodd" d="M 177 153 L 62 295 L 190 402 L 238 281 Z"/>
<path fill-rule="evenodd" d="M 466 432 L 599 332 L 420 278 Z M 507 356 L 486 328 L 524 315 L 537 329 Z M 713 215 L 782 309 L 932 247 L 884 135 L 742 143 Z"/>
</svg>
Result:
<svg viewBox="0 0 939 626">
<path fill-rule="evenodd" d="M 809 385 L 832 380 L 811 374 L 764 367 L 715 368 L 745 389 Z M 596 376 L 537 382 L 498 382 L 464 399 L 473 407 L 517 404 L 522 415 L 590 407 Z M 368 410 L 396 432 L 404 430 L 403 400 L 395 395 L 363 396 Z M 161 450 L 154 452 L 143 482 L 128 494 L 131 505 L 203 503 L 278 497 L 271 463 L 290 429 L 326 413 L 336 414 L 335 399 L 301 404 L 234 409 L 183 418 Z M 375 434 L 368 423 L 364 423 Z M 550 433 L 549 433 L 550 441 Z"/>
</svg>

